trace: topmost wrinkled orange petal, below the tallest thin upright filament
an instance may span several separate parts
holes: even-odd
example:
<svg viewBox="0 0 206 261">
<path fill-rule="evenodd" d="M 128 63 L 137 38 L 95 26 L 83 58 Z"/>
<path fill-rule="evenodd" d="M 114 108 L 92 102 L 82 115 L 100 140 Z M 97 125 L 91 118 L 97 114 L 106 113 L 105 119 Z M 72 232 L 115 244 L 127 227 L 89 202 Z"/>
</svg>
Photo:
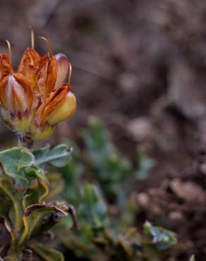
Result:
<svg viewBox="0 0 206 261">
<path fill-rule="evenodd" d="M 40 54 L 32 48 L 25 50 L 18 66 L 18 73 L 23 74 L 30 82 L 32 87 L 37 84 L 36 73 L 40 66 Z"/>
</svg>

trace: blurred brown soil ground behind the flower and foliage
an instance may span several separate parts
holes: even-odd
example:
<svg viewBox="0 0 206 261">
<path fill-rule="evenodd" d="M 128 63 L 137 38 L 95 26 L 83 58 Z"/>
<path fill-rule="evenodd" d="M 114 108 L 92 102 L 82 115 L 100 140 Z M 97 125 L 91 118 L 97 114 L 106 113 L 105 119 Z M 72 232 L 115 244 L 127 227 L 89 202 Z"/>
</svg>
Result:
<svg viewBox="0 0 206 261">
<path fill-rule="evenodd" d="M 12 46 L 15 67 L 30 46 L 62 52 L 73 64 L 78 111 L 56 128 L 80 146 L 79 131 L 98 116 L 121 154 L 154 160 L 135 183 L 145 219 L 167 217 L 178 232 L 178 257 L 206 257 L 206 2 L 205 0 L 1 0 L 0 49 Z M 1 147 L 16 142 L 1 125 Z M 202 259 L 199 260 L 202 260 Z M 204 259 L 204 258 L 203 258 Z"/>
</svg>

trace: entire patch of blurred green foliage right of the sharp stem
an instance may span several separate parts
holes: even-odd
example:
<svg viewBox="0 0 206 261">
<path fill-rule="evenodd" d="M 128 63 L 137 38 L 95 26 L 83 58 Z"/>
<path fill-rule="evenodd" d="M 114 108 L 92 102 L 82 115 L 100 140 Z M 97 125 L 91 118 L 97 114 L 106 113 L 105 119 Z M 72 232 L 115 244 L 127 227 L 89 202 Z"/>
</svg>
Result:
<svg viewBox="0 0 206 261">
<path fill-rule="evenodd" d="M 175 234 L 148 222 L 140 233 L 131 195 L 135 181 L 146 178 L 154 163 L 140 152 L 133 166 L 97 119 L 90 121 L 81 138 L 85 147 L 73 145 L 71 161 L 59 168 L 65 182 L 61 196 L 73 203 L 78 217 L 78 231 L 67 231 L 71 218 L 59 226 L 66 255 L 94 261 L 162 260 L 165 250 L 176 243 Z"/>
</svg>

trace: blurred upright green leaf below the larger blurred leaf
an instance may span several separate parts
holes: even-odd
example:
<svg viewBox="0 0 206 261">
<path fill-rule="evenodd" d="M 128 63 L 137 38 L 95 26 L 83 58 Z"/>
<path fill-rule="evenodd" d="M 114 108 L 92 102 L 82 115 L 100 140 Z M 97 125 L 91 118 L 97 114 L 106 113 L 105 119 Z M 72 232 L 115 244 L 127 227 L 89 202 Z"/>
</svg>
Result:
<svg viewBox="0 0 206 261">
<path fill-rule="evenodd" d="M 85 184 L 78 210 L 79 217 L 85 219 L 90 225 L 97 228 L 104 226 L 107 206 L 96 186 Z"/>
</svg>

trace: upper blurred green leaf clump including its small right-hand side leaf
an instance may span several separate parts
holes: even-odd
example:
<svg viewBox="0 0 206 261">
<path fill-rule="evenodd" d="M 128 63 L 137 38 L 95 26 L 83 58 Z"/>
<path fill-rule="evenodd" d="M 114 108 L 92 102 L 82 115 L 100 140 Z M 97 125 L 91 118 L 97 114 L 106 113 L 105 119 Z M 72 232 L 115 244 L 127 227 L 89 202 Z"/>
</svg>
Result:
<svg viewBox="0 0 206 261">
<path fill-rule="evenodd" d="M 101 186 L 110 202 L 119 202 L 130 193 L 131 186 L 139 179 L 147 178 L 154 165 L 143 152 L 137 155 L 137 166 L 123 157 L 109 139 L 109 134 L 102 123 L 92 118 L 87 130 L 83 130 L 85 143 L 84 161 L 93 172 L 93 177 Z M 123 186 L 122 186 L 123 184 Z"/>
</svg>

